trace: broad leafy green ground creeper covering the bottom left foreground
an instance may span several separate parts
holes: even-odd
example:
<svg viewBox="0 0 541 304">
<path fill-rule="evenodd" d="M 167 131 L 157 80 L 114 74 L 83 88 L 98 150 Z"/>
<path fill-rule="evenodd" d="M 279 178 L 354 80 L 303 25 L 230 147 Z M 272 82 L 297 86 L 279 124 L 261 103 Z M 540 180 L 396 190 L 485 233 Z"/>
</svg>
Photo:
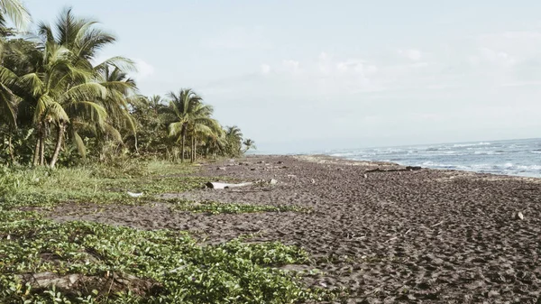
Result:
<svg viewBox="0 0 541 304">
<path fill-rule="evenodd" d="M 324 290 L 303 287 L 298 274 L 276 268 L 307 263 L 307 253 L 294 246 L 241 240 L 200 245 L 181 232 L 60 224 L 27 212 L 4 212 L 0 223 L 3 303 L 298 303 L 332 298 Z"/>
</svg>

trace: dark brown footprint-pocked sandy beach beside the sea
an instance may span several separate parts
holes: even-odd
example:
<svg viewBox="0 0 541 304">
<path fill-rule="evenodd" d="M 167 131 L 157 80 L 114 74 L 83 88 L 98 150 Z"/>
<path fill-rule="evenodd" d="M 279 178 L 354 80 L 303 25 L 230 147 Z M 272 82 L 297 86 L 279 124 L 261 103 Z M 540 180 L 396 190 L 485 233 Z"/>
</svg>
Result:
<svg viewBox="0 0 541 304">
<path fill-rule="evenodd" d="M 392 171 L 367 172 L 378 168 Z M 292 204 L 311 213 L 210 216 L 161 203 L 66 205 L 50 215 L 189 230 L 212 243 L 256 234 L 252 241 L 297 244 L 314 258 L 307 266 L 321 271 L 307 284 L 344 287 L 353 303 L 541 301 L 541 180 L 401 168 L 324 156 L 254 156 L 205 164 L 197 175 L 275 179 L 277 185 L 162 195 Z M 514 218 L 517 212 L 524 218 Z"/>
</svg>

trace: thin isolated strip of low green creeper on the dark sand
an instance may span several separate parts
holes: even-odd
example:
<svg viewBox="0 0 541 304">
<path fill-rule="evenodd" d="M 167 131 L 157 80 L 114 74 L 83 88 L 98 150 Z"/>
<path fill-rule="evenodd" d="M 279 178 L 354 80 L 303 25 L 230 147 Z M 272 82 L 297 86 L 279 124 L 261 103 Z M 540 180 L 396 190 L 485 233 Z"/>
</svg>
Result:
<svg viewBox="0 0 541 304">
<path fill-rule="evenodd" d="M 250 205 L 239 203 L 221 203 L 216 201 L 196 202 L 191 200 L 173 200 L 173 209 L 178 211 L 202 212 L 212 215 L 217 214 L 238 214 L 254 212 L 310 212 L 307 207 L 295 205 L 269 206 L 269 205 Z"/>
</svg>

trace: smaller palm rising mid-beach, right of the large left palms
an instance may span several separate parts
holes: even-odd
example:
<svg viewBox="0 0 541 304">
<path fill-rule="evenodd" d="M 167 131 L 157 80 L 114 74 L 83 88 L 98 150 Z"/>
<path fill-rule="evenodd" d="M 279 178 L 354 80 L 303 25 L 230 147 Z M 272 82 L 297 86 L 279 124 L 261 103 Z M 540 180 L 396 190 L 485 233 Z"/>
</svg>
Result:
<svg viewBox="0 0 541 304">
<path fill-rule="evenodd" d="M 203 104 L 203 98 L 199 97 L 190 88 L 181 89 L 178 95 L 170 92 L 168 96 L 172 99 L 170 101 L 170 110 L 175 114 L 175 122 L 169 125 L 170 136 L 179 137 L 181 140 L 180 161 L 183 162 L 186 137 L 188 132 L 192 134 L 191 159 L 193 161 L 193 153 L 197 148 L 197 133 L 210 134 L 219 125 L 215 119 L 210 117 L 213 108 Z"/>
</svg>

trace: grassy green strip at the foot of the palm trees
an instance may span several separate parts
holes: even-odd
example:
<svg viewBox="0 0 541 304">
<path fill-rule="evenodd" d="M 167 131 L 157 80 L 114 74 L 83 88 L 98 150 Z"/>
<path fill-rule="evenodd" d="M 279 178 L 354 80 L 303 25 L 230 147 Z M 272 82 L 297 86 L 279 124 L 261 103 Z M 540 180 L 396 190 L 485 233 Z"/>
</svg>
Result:
<svg viewBox="0 0 541 304">
<path fill-rule="evenodd" d="M 135 204 L 155 194 L 197 189 L 205 178 L 189 176 L 190 165 L 165 161 L 126 161 L 77 168 L 0 167 L 0 206 L 52 207 L 60 202 Z M 139 199 L 127 191 L 143 192 Z"/>
</svg>

